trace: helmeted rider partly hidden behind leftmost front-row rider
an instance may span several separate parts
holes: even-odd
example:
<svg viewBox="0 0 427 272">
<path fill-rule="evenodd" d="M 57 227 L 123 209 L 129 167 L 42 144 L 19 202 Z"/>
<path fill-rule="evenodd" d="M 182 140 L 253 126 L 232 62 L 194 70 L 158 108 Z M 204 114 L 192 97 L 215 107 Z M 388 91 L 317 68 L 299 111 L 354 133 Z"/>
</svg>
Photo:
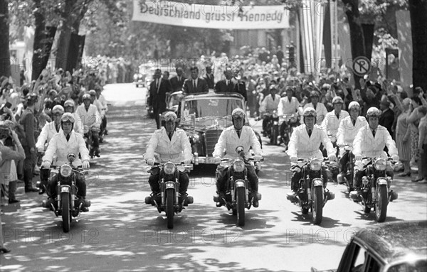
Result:
<svg viewBox="0 0 427 272">
<path fill-rule="evenodd" d="M 60 128 L 60 119 L 64 114 L 64 108 L 61 105 L 55 105 L 52 111 L 53 121 L 50 123 L 46 123 L 41 129 L 41 133 L 37 138 L 36 148 L 39 156 L 43 156 L 45 143 L 49 143 L 51 138 L 57 134 L 58 132 L 62 132 Z M 45 192 L 45 186 L 48 185 L 50 169 L 49 168 L 41 168 L 40 169 L 40 187 L 38 189 L 38 194 L 42 195 Z"/>
</svg>

